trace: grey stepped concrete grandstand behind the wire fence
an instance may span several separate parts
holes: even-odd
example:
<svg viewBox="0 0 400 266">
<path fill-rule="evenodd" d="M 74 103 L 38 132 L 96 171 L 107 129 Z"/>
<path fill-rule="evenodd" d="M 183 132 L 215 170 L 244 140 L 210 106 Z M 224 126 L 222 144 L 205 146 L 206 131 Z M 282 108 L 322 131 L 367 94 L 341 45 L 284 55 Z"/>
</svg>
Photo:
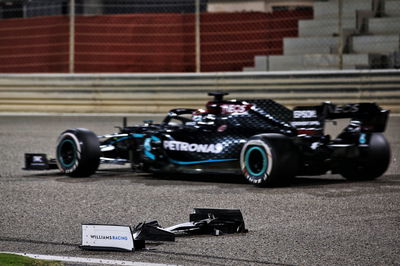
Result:
<svg viewBox="0 0 400 266">
<path fill-rule="evenodd" d="M 284 38 L 283 55 L 256 56 L 244 70 L 399 68 L 399 24 L 398 0 L 348 0 L 342 7 L 316 1 L 314 18 L 299 21 L 299 36 Z"/>
</svg>

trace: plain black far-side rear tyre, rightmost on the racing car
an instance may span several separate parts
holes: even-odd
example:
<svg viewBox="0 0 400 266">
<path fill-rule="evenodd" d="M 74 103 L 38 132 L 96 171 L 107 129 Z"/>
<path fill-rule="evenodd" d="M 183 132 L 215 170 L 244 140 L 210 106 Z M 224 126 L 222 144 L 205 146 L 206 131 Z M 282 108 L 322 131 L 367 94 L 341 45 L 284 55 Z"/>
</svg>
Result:
<svg viewBox="0 0 400 266">
<path fill-rule="evenodd" d="M 381 133 L 372 133 L 368 148 L 360 156 L 346 160 L 340 174 L 349 180 L 372 180 L 383 175 L 390 164 L 390 145 Z"/>
</svg>

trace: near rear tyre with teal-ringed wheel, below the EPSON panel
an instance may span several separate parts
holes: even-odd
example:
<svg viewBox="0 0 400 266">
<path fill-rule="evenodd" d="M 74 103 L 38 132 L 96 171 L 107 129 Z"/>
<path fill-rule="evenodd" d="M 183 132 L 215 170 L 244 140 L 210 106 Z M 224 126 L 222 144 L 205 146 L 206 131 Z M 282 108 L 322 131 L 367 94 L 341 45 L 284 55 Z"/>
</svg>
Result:
<svg viewBox="0 0 400 266">
<path fill-rule="evenodd" d="M 298 152 L 292 141 L 281 134 L 251 137 L 240 153 L 244 177 L 258 186 L 287 185 L 298 169 Z"/>
</svg>

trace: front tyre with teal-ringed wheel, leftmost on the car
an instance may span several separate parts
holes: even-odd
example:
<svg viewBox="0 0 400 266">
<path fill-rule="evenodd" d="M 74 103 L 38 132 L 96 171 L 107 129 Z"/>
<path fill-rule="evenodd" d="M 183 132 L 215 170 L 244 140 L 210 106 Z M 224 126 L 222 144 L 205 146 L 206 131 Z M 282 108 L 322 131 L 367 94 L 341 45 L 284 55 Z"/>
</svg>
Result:
<svg viewBox="0 0 400 266">
<path fill-rule="evenodd" d="M 56 162 L 61 172 L 71 177 L 87 177 L 100 164 L 97 136 L 84 128 L 68 129 L 57 140 Z"/>
</svg>

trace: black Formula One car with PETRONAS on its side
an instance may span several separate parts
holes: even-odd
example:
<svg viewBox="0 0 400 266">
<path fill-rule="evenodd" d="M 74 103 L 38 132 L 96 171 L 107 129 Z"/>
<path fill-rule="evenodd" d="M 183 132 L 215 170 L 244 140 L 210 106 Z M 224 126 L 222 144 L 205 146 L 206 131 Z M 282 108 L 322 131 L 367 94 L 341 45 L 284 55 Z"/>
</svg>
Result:
<svg viewBox="0 0 400 266">
<path fill-rule="evenodd" d="M 160 124 L 124 123 L 118 133 L 100 137 L 68 129 L 58 138 L 53 165 L 43 167 L 57 165 L 68 176 L 83 177 L 101 163 L 130 163 L 141 172 L 238 174 L 273 186 L 328 171 L 352 180 L 374 179 L 389 166 L 390 146 L 382 134 L 389 111 L 375 103 L 325 102 L 290 110 L 273 100 L 209 95 L 214 99 L 204 110 L 173 109 Z M 325 135 L 326 121 L 340 118 L 350 118 L 349 125 L 334 139 Z M 26 168 L 41 167 L 40 156 L 26 156 Z"/>
</svg>

